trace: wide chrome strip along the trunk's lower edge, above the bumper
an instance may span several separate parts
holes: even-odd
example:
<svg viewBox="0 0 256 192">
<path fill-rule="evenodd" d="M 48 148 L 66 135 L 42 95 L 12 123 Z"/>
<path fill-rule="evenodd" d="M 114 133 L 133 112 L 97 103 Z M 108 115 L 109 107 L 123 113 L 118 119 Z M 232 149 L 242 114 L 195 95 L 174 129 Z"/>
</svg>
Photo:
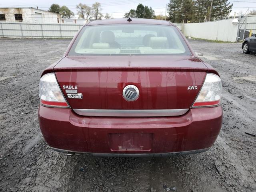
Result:
<svg viewBox="0 0 256 192">
<path fill-rule="evenodd" d="M 78 115 L 107 117 L 160 117 L 179 116 L 189 109 L 159 109 L 159 110 L 112 110 L 112 109 L 73 109 Z"/>
</svg>

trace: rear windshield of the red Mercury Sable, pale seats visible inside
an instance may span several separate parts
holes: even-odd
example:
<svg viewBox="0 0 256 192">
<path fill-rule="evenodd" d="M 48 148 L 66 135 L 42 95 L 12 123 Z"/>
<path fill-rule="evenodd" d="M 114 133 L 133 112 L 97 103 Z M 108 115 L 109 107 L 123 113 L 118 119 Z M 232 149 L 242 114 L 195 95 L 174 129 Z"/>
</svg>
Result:
<svg viewBox="0 0 256 192">
<path fill-rule="evenodd" d="M 174 26 L 84 26 L 68 55 L 191 55 Z"/>
</svg>

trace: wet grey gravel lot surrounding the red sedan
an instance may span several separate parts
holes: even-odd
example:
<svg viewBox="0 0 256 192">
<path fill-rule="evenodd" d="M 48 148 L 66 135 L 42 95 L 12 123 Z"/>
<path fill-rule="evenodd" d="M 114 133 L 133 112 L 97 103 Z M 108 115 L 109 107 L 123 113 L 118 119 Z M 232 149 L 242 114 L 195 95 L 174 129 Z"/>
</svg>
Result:
<svg viewBox="0 0 256 192">
<path fill-rule="evenodd" d="M 222 130 L 205 153 L 172 158 L 66 156 L 37 120 L 42 70 L 69 40 L 0 39 L 0 191 L 256 192 L 256 55 L 190 40 L 222 78 Z"/>
</svg>

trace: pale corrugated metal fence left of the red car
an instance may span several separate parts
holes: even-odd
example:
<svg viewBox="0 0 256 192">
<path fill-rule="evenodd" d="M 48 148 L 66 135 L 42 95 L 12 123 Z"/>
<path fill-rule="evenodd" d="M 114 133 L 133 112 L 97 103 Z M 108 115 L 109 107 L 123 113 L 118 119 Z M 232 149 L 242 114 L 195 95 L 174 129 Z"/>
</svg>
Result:
<svg viewBox="0 0 256 192">
<path fill-rule="evenodd" d="M 34 24 L 0 22 L 0 37 L 73 38 L 83 24 Z"/>
</svg>

